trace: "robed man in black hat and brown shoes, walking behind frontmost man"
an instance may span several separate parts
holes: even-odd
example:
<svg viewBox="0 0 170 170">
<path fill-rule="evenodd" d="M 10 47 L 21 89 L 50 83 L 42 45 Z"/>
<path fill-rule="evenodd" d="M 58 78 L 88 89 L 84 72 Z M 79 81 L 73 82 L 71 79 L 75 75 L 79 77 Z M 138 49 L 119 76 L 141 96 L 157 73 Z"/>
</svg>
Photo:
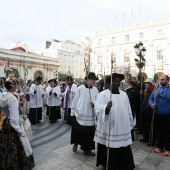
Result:
<svg viewBox="0 0 170 170">
<path fill-rule="evenodd" d="M 95 155 L 91 150 L 95 149 L 93 141 L 96 125 L 94 105 L 99 94 L 97 88 L 94 87 L 96 79 L 95 73 L 88 74 L 87 83 L 78 87 L 71 107 L 71 114 L 75 115 L 71 131 L 71 144 L 74 144 L 72 150 L 76 152 L 80 145 L 84 154 L 89 156 Z"/>
</svg>

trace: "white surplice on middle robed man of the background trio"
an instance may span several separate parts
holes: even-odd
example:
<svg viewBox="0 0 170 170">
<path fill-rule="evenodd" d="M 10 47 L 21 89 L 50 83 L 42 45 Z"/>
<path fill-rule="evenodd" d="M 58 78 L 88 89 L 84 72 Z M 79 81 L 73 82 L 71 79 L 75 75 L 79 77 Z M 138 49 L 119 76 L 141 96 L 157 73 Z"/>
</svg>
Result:
<svg viewBox="0 0 170 170">
<path fill-rule="evenodd" d="M 50 91 L 52 91 L 52 94 L 50 95 Z M 55 95 L 57 94 L 57 96 Z M 60 106 L 61 105 L 61 90 L 59 86 L 56 86 L 54 88 L 49 87 L 46 91 L 47 94 L 47 100 L 48 100 L 48 106 Z"/>
</svg>

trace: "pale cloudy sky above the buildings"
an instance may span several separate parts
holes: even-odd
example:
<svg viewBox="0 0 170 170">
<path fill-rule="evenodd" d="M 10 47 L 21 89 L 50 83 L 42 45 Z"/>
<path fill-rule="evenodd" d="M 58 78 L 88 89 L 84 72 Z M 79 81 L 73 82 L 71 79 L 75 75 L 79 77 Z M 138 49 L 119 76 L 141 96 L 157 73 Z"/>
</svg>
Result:
<svg viewBox="0 0 170 170">
<path fill-rule="evenodd" d="M 3 0 L 0 5 L 0 48 L 20 41 L 29 51 L 38 51 L 44 40 L 79 42 L 97 30 L 170 17 L 169 0 Z"/>
</svg>

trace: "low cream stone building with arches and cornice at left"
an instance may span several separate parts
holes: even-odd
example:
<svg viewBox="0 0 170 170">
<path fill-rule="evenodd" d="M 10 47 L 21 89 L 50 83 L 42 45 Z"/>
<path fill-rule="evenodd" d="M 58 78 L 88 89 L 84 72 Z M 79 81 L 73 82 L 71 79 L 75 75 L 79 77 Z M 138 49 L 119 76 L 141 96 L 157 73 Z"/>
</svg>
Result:
<svg viewBox="0 0 170 170">
<path fill-rule="evenodd" d="M 17 73 L 18 77 L 34 80 L 37 75 L 43 80 L 54 78 L 54 72 L 58 70 L 58 60 L 45 57 L 27 49 L 16 46 L 11 50 L 0 48 L 0 77 L 5 77 L 5 70 Z M 27 70 L 27 74 L 25 71 Z"/>
</svg>

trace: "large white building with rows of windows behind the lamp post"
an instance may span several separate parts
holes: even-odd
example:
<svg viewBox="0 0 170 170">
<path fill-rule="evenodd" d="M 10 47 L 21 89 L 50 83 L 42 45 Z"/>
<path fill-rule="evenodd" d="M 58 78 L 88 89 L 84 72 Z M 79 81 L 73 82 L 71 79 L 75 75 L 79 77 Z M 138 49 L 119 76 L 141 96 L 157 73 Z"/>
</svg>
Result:
<svg viewBox="0 0 170 170">
<path fill-rule="evenodd" d="M 101 77 L 110 74 L 111 53 L 114 60 L 114 72 L 132 76 L 139 72 L 135 65 L 134 46 L 142 42 L 146 48 L 146 65 L 142 69 L 145 78 L 158 78 L 163 73 L 170 73 L 170 18 L 135 23 L 103 31 L 97 31 L 92 37 L 90 70 Z"/>
</svg>

